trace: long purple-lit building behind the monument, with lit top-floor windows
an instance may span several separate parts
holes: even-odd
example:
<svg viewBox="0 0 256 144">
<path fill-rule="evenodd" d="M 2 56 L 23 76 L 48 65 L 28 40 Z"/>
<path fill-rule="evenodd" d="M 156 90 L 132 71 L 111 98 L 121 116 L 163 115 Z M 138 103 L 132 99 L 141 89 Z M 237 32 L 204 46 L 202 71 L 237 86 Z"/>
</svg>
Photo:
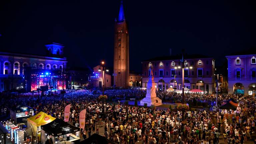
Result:
<svg viewBox="0 0 256 144">
<path fill-rule="evenodd" d="M 182 62 L 181 56 L 157 57 L 142 62 L 142 86 L 147 87 L 149 67 L 154 74 L 155 87 L 165 91 L 169 87 L 182 89 Z M 184 87 L 200 89 L 204 93 L 214 93 L 214 59 L 200 55 L 185 55 Z"/>
</svg>

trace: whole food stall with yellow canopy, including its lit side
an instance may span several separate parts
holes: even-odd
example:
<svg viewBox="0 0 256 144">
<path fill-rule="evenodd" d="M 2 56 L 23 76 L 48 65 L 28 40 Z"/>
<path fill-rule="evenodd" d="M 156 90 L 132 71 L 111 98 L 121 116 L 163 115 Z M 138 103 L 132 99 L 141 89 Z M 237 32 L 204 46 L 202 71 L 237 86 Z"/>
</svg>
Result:
<svg viewBox="0 0 256 144">
<path fill-rule="evenodd" d="M 38 114 L 28 118 L 28 135 L 36 136 L 38 141 L 41 140 L 41 125 L 48 124 L 56 118 L 44 113 L 39 112 Z M 31 130 L 30 130 L 31 129 Z"/>
</svg>

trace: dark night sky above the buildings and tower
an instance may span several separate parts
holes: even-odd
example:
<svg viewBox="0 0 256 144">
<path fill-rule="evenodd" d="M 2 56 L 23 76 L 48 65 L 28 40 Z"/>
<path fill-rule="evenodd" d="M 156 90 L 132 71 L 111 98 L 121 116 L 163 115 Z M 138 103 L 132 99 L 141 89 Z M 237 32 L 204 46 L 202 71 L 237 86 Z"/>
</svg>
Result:
<svg viewBox="0 0 256 144">
<path fill-rule="evenodd" d="M 7 2 L 8 1 L 8 2 Z M 256 48 L 252 1 L 124 0 L 129 24 L 130 70 L 141 61 L 203 54 L 222 65 L 225 56 Z M 45 44 L 65 45 L 68 66 L 113 66 L 114 19 L 120 0 L 1 0 L 0 50 L 45 54 Z"/>
</svg>

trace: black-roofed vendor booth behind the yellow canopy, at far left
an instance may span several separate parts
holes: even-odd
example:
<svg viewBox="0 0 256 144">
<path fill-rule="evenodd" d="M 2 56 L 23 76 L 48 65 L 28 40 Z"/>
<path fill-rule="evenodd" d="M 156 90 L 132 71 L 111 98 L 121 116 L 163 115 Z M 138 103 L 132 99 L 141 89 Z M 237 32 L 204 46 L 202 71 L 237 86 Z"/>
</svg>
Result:
<svg viewBox="0 0 256 144">
<path fill-rule="evenodd" d="M 27 119 L 30 117 L 30 115 L 34 115 L 34 111 L 31 107 L 25 105 L 18 105 L 11 108 L 10 114 L 11 119 L 14 120 L 14 124 L 27 124 Z"/>
</svg>

